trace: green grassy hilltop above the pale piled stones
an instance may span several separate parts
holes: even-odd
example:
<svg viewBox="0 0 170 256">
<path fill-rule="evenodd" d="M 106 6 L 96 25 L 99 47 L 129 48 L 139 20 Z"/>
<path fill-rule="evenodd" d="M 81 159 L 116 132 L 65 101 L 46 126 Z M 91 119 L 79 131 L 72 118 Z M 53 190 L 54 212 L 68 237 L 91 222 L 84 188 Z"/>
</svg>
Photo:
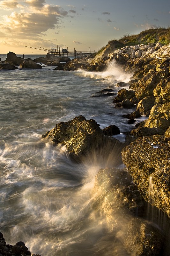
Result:
<svg viewBox="0 0 170 256">
<path fill-rule="evenodd" d="M 118 40 L 124 45 L 135 45 L 135 44 L 148 44 L 157 43 L 169 44 L 170 43 L 170 27 L 169 28 L 153 28 L 142 31 L 137 35 L 124 35 Z M 127 42 L 126 42 L 127 41 Z"/>
</svg>

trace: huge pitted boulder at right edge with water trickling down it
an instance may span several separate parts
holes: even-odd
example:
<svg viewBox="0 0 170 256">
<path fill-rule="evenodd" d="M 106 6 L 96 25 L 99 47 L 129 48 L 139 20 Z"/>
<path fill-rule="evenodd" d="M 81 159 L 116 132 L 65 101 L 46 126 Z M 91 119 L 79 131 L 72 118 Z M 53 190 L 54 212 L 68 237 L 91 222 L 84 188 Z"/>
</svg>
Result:
<svg viewBox="0 0 170 256">
<path fill-rule="evenodd" d="M 140 137 L 122 150 L 134 183 L 144 199 L 170 217 L 170 141 L 164 135 Z"/>
</svg>

